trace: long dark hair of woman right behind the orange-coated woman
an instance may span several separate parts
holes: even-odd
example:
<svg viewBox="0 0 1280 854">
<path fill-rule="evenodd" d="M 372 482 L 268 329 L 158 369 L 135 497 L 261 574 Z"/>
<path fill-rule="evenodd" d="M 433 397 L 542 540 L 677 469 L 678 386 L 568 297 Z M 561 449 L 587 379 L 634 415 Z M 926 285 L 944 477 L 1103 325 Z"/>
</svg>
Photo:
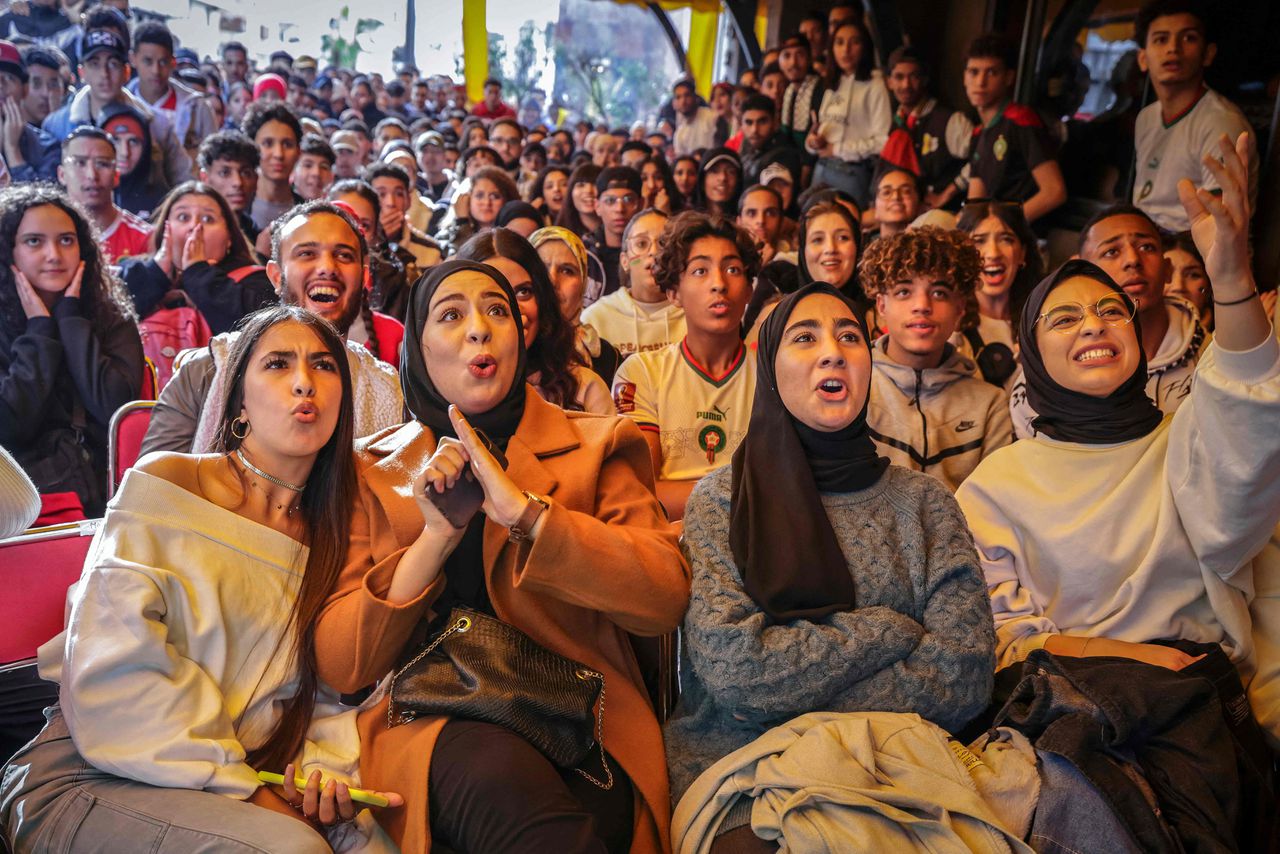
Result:
<svg viewBox="0 0 1280 854">
<path fill-rule="evenodd" d="M 529 373 L 538 374 L 538 389 L 566 410 L 581 410 L 577 403 L 577 376 L 573 365 L 581 364 L 575 348 L 573 326 L 559 310 L 556 288 L 538 250 L 509 228 L 493 228 L 476 234 L 462 245 L 457 257 L 485 262 L 498 256 L 515 261 L 529 273 L 538 303 L 538 338 L 529 346 Z"/>
</svg>

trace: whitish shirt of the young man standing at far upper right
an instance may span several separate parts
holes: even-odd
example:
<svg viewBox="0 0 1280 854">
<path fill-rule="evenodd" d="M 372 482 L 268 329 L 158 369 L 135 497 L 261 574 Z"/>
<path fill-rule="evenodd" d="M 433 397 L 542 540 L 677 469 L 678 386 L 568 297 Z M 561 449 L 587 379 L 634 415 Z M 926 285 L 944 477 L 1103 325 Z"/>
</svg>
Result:
<svg viewBox="0 0 1280 854">
<path fill-rule="evenodd" d="M 1212 154 L 1221 160 L 1219 137 L 1225 133 L 1234 142 L 1242 131 L 1249 131 L 1252 207 L 1258 198 L 1258 141 L 1240 108 L 1211 88 L 1206 88 L 1201 99 L 1170 124 L 1165 124 L 1160 101 L 1144 106 L 1134 127 L 1138 159 L 1133 204 L 1156 220 L 1156 225 L 1170 232 L 1185 232 L 1190 222 L 1178 201 L 1178 182 L 1190 178 L 1197 187 L 1217 188 L 1217 181 L 1201 157 Z"/>
</svg>

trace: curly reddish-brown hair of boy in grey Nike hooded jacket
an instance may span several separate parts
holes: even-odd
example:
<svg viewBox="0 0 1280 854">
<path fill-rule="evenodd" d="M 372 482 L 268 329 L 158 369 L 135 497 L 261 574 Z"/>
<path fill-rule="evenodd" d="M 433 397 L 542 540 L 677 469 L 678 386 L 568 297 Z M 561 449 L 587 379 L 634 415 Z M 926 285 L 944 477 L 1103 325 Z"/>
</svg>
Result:
<svg viewBox="0 0 1280 854">
<path fill-rule="evenodd" d="M 918 275 L 946 282 L 965 301 L 960 328 L 978 325 L 978 301 L 973 294 L 978 288 L 982 257 L 964 232 L 924 225 L 882 237 L 867 247 L 858 270 L 859 283 L 872 300 Z"/>
</svg>

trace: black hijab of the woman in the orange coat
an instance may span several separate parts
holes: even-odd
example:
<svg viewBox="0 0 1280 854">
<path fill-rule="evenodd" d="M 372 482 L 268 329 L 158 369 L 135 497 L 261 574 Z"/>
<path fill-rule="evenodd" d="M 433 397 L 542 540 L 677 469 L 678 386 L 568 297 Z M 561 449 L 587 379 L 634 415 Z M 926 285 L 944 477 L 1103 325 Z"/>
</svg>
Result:
<svg viewBox="0 0 1280 854">
<path fill-rule="evenodd" d="M 408 411 L 415 419 L 430 428 L 436 440 L 443 435 L 457 438 L 457 431 L 449 421 L 449 401 L 444 399 L 426 373 L 426 362 L 422 359 L 422 326 L 426 324 L 431 297 L 435 296 L 436 288 L 451 275 L 466 270 L 480 273 L 502 288 L 511 307 L 511 316 L 516 321 L 518 361 L 511 388 L 507 389 L 506 397 L 488 412 L 467 415 L 471 426 L 484 430 L 494 444 L 506 448 L 507 442 L 516 433 L 516 428 L 520 426 L 520 419 L 525 415 L 525 335 L 520 325 L 516 292 L 511 289 L 507 277 L 488 264 L 444 261 L 413 283 L 408 297 L 408 311 L 404 316 L 404 341 L 401 344 L 401 388 L 404 391 L 404 405 Z M 471 519 L 462 540 L 444 561 L 444 590 L 433 608 L 440 620 L 448 618 L 453 606 L 493 613 L 493 603 L 489 600 L 484 574 L 484 524 L 485 515 L 481 511 Z"/>
</svg>

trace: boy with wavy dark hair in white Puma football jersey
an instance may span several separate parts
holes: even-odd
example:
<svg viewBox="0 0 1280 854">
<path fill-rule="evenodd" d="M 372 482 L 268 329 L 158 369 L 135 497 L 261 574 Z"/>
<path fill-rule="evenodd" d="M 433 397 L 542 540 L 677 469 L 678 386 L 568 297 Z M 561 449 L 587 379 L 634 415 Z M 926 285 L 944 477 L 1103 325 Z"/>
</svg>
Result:
<svg viewBox="0 0 1280 854">
<path fill-rule="evenodd" d="M 698 479 L 727 465 L 746 435 L 755 357 L 740 324 L 758 271 L 755 241 L 732 222 L 686 211 L 667 224 L 654 280 L 685 310 L 687 333 L 622 362 L 613 402 L 644 431 L 672 520 L 684 517 Z"/>
</svg>

